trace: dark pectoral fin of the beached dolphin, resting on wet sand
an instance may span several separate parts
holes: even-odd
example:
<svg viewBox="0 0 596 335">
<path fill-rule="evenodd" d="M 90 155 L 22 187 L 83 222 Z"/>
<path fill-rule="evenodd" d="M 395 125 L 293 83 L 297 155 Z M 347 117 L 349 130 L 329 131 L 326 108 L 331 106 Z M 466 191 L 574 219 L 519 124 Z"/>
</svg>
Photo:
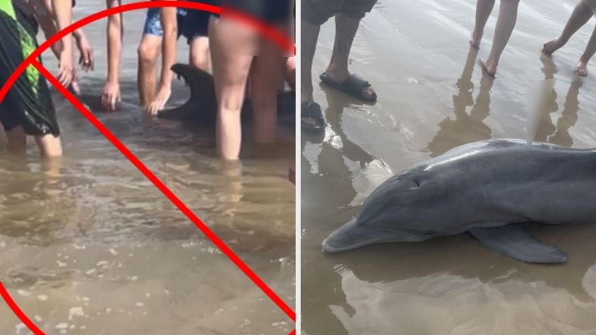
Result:
<svg viewBox="0 0 596 335">
<path fill-rule="evenodd" d="M 567 255 L 563 251 L 538 242 L 519 225 L 474 228 L 469 232 L 486 247 L 519 261 L 562 263 L 567 260 Z"/>
</svg>

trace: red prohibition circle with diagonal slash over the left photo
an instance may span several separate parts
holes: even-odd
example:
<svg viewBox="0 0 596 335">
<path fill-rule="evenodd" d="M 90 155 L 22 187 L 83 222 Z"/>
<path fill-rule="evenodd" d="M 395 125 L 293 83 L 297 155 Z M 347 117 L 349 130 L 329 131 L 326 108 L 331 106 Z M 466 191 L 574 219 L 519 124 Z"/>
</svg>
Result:
<svg viewBox="0 0 596 335">
<path fill-rule="evenodd" d="M 278 306 L 278 308 L 280 308 L 280 310 L 283 310 L 283 312 L 288 317 L 290 317 L 292 322 L 296 322 L 296 313 L 294 312 L 294 310 L 292 310 L 292 308 L 290 308 L 290 306 L 288 306 L 287 303 L 285 303 L 282 300 L 282 298 L 280 298 L 276 294 L 276 292 L 274 292 L 270 287 L 268 287 L 268 285 L 263 280 L 261 280 L 261 278 L 259 278 L 259 276 L 254 271 L 252 271 L 248 267 L 248 265 L 246 265 L 242 261 L 242 259 L 236 256 L 232 249 L 230 249 L 230 247 L 228 247 L 221 239 L 219 239 L 219 237 L 217 237 L 217 235 L 215 235 L 215 233 L 211 229 L 209 229 L 209 227 L 207 227 L 207 225 L 205 225 L 205 223 L 203 223 L 203 221 L 201 221 L 201 219 L 198 218 L 193 213 L 193 211 L 190 211 L 188 206 L 186 206 L 186 204 L 184 204 L 181 201 L 181 199 L 179 199 L 179 197 L 177 197 L 174 194 L 174 192 L 171 192 L 171 190 L 169 190 L 167 186 L 164 183 L 162 183 L 162 181 L 159 178 L 157 178 L 157 176 L 155 176 L 155 174 L 152 171 L 150 171 L 145 166 L 145 164 L 143 164 L 143 162 L 136 158 L 133 155 L 133 153 L 126 146 L 124 146 L 124 144 L 122 144 L 122 142 L 120 142 L 120 140 L 118 140 L 116 136 L 114 136 L 114 134 L 112 134 L 107 128 L 105 128 L 105 126 L 103 126 L 103 124 L 101 124 L 101 122 L 95 116 L 93 116 L 93 113 L 87 110 L 86 107 L 79 100 L 77 100 L 77 98 L 75 98 L 62 84 L 60 84 L 58 79 L 56 79 L 56 77 L 54 77 L 53 74 L 51 74 L 43 65 L 41 65 L 41 63 L 37 61 L 39 55 L 46 51 L 47 48 L 49 48 L 57 41 L 65 37 L 65 35 L 70 34 L 74 32 L 74 30 L 84 27 L 85 25 L 88 25 L 91 22 L 95 22 L 97 20 L 106 18 L 110 15 L 124 13 L 127 11 L 159 7 L 180 7 L 194 9 L 197 11 L 206 11 L 214 14 L 221 14 L 222 12 L 221 7 L 212 6 L 209 4 L 201 4 L 189 1 L 153 0 L 125 4 L 122 6 L 109 8 L 105 11 L 100 11 L 98 13 L 89 15 L 86 18 L 72 23 L 72 25 L 66 27 L 65 29 L 53 35 L 51 38 L 49 38 L 47 41 L 41 44 L 39 48 L 33 51 L 31 55 L 25 58 L 25 61 L 23 61 L 16 68 L 15 72 L 11 74 L 11 77 L 8 77 L 6 83 L 4 83 L 4 85 L 0 88 L 0 102 L 4 100 L 4 97 L 6 96 L 6 93 L 8 93 L 8 90 L 13 86 L 15 81 L 27 68 L 27 66 L 32 65 L 33 67 L 35 67 L 39 71 L 39 73 L 43 75 L 56 88 L 56 91 L 61 93 L 66 98 L 66 100 L 72 103 L 72 105 L 77 110 L 79 110 L 79 112 L 81 112 L 81 114 L 89 122 L 91 122 L 91 124 L 93 124 L 93 126 L 95 126 L 96 129 L 100 131 L 103 134 L 103 136 L 105 136 L 105 138 L 108 141 L 110 141 L 110 143 L 112 143 L 112 145 L 114 145 L 114 147 L 129 160 L 129 162 L 131 162 L 131 164 L 133 164 L 138 169 L 138 171 L 143 173 L 145 178 L 150 180 L 150 182 L 153 183 L 153 185 L 155 185 L 155 188 L 160 190 L 163 193 L 163 195 L 167 197 L 171 201 L 171 203 L 174 204 L 174 206 L 176 206 L 188 218 L 188 220 L 190 220 L 203 234 L 205 234 L 216 245 L 216 247 L 218 247 L 221 250 L 221 252 L 224 253 L 230 259 L 232 263 L 234 263 L 247 277 L 249 277 L 250 280 L 252 280 L 252 282 L 254 282 L 254 284 L 257 285 L 257 287 L 259 287 L 259 289 L 261 289 L 261 291 L 263 291 L 263 293 L 266 294 L 266 296 L 268 296 L 268 298 L 270 298 L 271 301 L 273 301 L 273 303 L 275 303 Z M 277 29 L 270 27 L 266 23 L 261 22 L 256 18 L 252 18 L 243 13 L 233 11 L 228 8 L 226 8 L 225 10 L 228 18 L 240 20 L 245 24 L 250 25 L 252 29 L 255 29 L 257 32 L 259 32 L 259 34 L 261 34 L 261 36 L 265 37 L 266 39 L 273 41 L 274 44 L 276 44 L 286 53 L 295 54 L 294 43 L 290 39 L 288 39 L 284 34 L 279 32 Z M 27 315 L 25 315 L 25 313 L 22 312 L 22 310 L 20 310 L 13 298 L 8 294 L 8 291 L 6 291 L 6 287 L 4 287 L 4 284 L 2 284 L 2 282 L 0 282 L 0 295 L 2 296 L 2 298 L 4 298 L 4 301 L 6 302 L 8 307 L 10 307 L 11 310 L 13 310 L 13 313 L 15 313 L 19 320 L 23 324 L 25 324 L 25 326 L 27 326 L 27 328 L 30 329 L 30 331 L 32 331 L 33 334 L 46 335 L 43 331 L 41 331 L 41 329 L 39 329 L 39 327 L 37 327 L 36 324 L 31 322 L 31 320 L 27 317 Z M 294 329 L 292 332 L 290 332 L 290 335 L 294 335 L 295 333 L 296 331 Z"/>
</svg>

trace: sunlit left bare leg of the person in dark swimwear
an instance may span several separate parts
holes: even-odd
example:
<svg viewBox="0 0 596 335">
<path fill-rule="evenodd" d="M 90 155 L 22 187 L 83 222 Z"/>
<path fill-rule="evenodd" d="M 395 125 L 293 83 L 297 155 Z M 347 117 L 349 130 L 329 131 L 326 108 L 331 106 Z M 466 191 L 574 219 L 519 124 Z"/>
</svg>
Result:
<svg viewBox="0 0 596 335">
<path fill-rule="evenodd" d="M 240 110 L 254 58 L 235 48 L 242 29 L 244 32 L 247 30 L 229 20 L 225 22 L 214 17 L 209 19 L 209 45 L 217 98 L 216 143 L 219 155 L 226 160 L 236 160 L 240 155 Z"/>
</svg>

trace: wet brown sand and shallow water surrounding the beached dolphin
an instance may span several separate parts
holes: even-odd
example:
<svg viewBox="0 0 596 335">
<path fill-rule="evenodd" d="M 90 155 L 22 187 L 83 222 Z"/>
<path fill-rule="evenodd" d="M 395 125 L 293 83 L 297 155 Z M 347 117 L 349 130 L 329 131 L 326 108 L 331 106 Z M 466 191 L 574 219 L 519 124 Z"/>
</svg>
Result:
<svg viewBox="0 0 596 335">
<path fill-rule="evenodd" d="M 530 265 L 468 235 L 325 255 L 320 243 L 353 218 L 393 173 L 452 147 L 526 138 L 531 81 L 557 78 L 537 140 L 596 147 L 596 67 L 574 77 L 594 20 L 552 59 L 575 1 L 522 1 L 495 80 L 483 77 L 498 4 L 481 49 L 469 49 L 476 1 L 381 0 L 361 23 L 351 70 L 377 90 L 361 105 L 316 85 L 325 139 L 302 139 L 303 334 L 596 334 L 595 226 L 531 227 L 569 254 L 563 265 Z M 321 31 L 314 74 L 330 57 L 334 25 Z"/>
</svg>

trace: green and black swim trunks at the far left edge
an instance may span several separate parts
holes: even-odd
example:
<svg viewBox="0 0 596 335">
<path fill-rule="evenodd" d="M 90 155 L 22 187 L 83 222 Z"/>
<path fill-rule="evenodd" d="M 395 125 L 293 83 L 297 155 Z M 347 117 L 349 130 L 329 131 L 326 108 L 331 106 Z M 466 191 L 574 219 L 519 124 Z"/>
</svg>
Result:
<svg viewBox="0 0 596 335">
<path fill-rule="evenodd" d="M 36 48 L 37 21 L 22 0 L 0 0 L 0 83 Z M 41 58 L 38 59 L 41 63 Z M 6 131 L 22 126 L 27 135 L 60 135 L 46 80 L 27 67 L 0 103 Z"/>
</svg>

